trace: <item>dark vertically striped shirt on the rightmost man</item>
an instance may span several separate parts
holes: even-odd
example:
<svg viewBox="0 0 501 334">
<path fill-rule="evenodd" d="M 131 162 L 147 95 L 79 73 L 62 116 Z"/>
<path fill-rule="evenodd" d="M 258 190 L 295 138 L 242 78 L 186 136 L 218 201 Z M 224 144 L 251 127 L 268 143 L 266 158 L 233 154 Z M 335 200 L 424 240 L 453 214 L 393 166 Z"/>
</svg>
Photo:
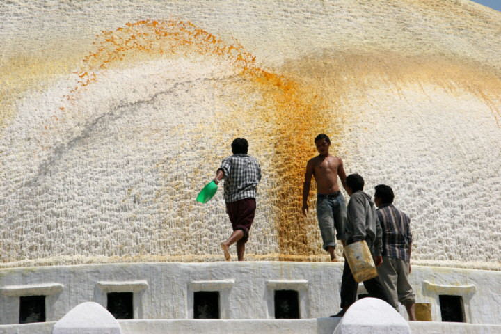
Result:
<svg viewBox="0 0 501 334">
<path fill-rule="evenodd" d="M 411 219 L 392 204 L 376 210 L 383 229 L 383 256 L 409 262 L 408 247 L 412 244 Z"/>
</svg>

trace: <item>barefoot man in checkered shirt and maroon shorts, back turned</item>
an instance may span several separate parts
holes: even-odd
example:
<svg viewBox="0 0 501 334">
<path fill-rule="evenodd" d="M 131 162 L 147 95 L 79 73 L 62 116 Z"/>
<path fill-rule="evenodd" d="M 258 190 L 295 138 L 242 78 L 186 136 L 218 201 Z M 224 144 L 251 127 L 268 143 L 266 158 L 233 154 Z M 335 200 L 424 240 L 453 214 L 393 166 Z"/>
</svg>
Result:
<svg viewBox="0 0 501 334">
<path fill-rule="evenodd" d="M 256 209 L 256 188 L 261 180 L 261 168 L 257 160 L 247 155 L 248 141 L 237 138 L 232 142 L 233 155 L 224 159 L 216 172 L 214 182 L 224 183 L 226 212 L 232 223 L 233 233 L 221 242 L 226 261 L 230 260 L 229 248 L 237 243 L 237 257 L 244 260 L 245 244 L 248 240 L 250 225 L 254 221 Z"/>
</svg>

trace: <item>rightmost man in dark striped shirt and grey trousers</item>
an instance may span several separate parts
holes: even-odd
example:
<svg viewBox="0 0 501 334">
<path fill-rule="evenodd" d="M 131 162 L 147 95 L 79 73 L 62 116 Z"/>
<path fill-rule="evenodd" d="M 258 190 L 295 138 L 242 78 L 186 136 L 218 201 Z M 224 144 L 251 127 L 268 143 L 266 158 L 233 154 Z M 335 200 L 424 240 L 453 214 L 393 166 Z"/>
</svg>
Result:
<svg viewBox="0 0 501 334">
<path fill-rule="evenodd" d="M 390 305 L 398 312 L 397 301 L 405 306 L 409 320 L 415 320 L 415 295 L 408 281 L 411 273 L 411 219 L 392 205 L 393 190 L 379 184 L 375 187 L 376 214 L 383 229 L 383 263 L 378 267 L 381 284 L 390 296 Z"/>
</svg>

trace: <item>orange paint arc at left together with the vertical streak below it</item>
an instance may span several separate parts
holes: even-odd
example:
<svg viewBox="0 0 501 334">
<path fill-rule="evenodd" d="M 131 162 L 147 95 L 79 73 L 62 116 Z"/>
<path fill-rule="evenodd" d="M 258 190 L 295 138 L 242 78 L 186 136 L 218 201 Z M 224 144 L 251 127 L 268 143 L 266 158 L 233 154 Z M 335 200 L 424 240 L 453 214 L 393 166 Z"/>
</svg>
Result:
<svg viewBox="0 0 501 334">
<path fill-rule="evenodd" d="M 319 250 L 313 249 L 308 241 L 308 229 L 312 226 L 301 214 L 304 168 L 315 153 L 312 138 L 321 132 L 319 125 L 326 124 L 324 113 L 320 112 L 323 104 L 319 103 L 317 95 L 312 95 L 308 88 L 292 79 L 260 68 L 255 56 L 245 51 L 237 40 L 232 44 L 225 43 L 187 21 L 170 19 L 128 23 L 115 31 L 102 31 L 94 44 L 96 51 L 83 59 L 77 73 L 81 81 L 67 95 L 70 101 L 75 100 L 88 84 L 97 81 L 100 73 L 141 56 L 215 57 L 239 70 L 244 79 L 255 83 L 265 99 L 274 104 L 269 117 L 276 131 L 273 140 L 278 143 L 271 177 L 278 184 L 278 189 L 274 189 L 273 206 L 278 212 L 275 225 L 279 258 L 290 260 L 291 255 L 318 253 Z"/>
</svg>

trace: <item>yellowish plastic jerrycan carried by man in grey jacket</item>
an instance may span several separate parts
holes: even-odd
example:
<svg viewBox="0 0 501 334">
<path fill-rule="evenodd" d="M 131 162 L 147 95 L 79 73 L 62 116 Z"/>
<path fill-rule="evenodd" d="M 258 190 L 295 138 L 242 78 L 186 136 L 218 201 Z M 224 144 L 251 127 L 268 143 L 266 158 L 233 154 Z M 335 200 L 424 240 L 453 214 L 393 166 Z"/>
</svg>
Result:
<svg viewBox="0 0 501 334">
<path fill-rule="evenodd" d="M 347 258 L 356 282 L 360 283 L 377 277 L 377 269 L 365 240 L 355 241 L 344 247 L 344 256 Z"/>
</svg>

